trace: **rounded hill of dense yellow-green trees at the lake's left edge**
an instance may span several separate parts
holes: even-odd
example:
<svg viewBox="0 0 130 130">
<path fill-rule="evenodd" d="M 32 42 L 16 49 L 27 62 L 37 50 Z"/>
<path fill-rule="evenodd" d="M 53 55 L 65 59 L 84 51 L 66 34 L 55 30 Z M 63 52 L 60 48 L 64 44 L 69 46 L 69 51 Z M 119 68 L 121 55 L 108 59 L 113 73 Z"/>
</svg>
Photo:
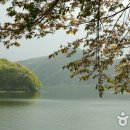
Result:
<svg viewBox="0 0 130 130">
<path fill-rule="evenodd" d="M 40 80 L 31 70 L 6 59 L 0 59 L 0 91 L 32 93 L 40 86 Z"/>
</svg>

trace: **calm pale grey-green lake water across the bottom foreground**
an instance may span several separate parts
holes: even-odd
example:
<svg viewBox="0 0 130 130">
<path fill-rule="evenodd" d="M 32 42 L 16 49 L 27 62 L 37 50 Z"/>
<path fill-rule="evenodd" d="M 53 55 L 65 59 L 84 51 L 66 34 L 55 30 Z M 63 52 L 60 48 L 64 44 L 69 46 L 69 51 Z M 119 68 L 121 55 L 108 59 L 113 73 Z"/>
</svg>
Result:
<svg viewBox="0 0 130 130">
<path fill-rule="evenodd" d="M 121 111 L 130 115 L 130 100 L 0 98 L 0 130 L 129 130 Z"/>
</svg>

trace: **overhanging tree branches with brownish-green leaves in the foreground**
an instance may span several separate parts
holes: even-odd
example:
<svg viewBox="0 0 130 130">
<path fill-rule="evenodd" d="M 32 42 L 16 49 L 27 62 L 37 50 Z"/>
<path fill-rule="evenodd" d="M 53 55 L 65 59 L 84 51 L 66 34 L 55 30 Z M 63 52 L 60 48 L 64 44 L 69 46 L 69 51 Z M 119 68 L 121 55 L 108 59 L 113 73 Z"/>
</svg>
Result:
<svg viewBox="0 0 130 130">
<path fill-rule="evenodd" d="M 116 66 L 113 77 L 105 71 L 130 47 L 129 0 L 12 0 L 7 15 L 13 22 L 0 27 L 1 41 L 7 48 L 19 46 L 22 37 L 40 38 L 59 29 L 76 34 L 82 25 L 86 36 L 61 46 L 50 58 L 59 53 L 70 57 L 82 46 L 82 58 L 64 66 L 72 72 L 71 77 L 98 79 L 100 96 L 110 88 L 115 93 L 130 91 L 130 52 Z"/>
</svg>

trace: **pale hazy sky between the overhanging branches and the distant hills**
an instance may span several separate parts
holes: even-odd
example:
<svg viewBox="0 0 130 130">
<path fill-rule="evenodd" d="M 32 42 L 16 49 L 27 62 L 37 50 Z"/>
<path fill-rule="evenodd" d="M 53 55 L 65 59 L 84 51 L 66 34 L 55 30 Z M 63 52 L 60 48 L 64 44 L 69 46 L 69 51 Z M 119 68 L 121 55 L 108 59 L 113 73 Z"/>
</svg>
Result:
<svg viewBox="0 0 130 130">
<path fill-rule="evenodd" d="M 125 0 L 127 1 L 127 0 Z M 0 5 L 0 22 L 7 21 L 6 17 L 7 5 Z M 3 43 L 0 44 L 0 58 L 7 58 L 9 60 L 18 61 L 40 56 L 48 56 L 56 51 L 60 45 L 67 45 L 67 42 L 73 41 L 76 38 L 83 37 L 83 28 L 77 33 L 76 36 L 66 35 L 64 31 L 57 31 L 54 35 L 48 35 L 41 39 L 21 40 L 20 47 L 12 46 L 6 49 Z"/>
</svg>

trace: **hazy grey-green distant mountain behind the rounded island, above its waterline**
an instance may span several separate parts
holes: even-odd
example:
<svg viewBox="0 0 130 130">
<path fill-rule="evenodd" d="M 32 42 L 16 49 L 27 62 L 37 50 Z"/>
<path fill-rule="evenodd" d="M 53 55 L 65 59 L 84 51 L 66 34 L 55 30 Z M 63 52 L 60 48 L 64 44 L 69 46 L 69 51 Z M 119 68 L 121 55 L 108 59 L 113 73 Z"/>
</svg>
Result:
<svg viewBox="0 0 130 130">
<path fill-rule="evenodd" d="M 78 49 L 77 53 L 70 58 L 59 55 L 55 59 L 49 59 L 47 56 L 32 58 L 25 61 L 19 61 L 18 63 L 24 65 L 33 70 L 45 86 L 57 86 L 57 85 L 95 85 L 94 79 L 88 81 L 80 81 L 79 78 L 71 78 L 71 74 L 67 69 L 63 70 L 63 66 L 71 60 L 77 60 L 82 57 L 82 50 Z M 114 66 L 119 61 L 116 60 L 113 66 L 109 66 L 107 73 L 114 75 Z"/>
</svg>

